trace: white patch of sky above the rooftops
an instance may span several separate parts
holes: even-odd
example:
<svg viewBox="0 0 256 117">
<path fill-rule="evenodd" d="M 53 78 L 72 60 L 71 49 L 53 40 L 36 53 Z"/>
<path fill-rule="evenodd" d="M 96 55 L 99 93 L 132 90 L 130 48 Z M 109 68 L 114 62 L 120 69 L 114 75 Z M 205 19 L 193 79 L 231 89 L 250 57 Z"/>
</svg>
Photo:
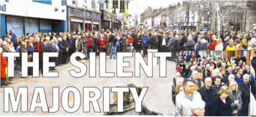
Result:
<svg viewBox="0 0 256 117">
<path fill-rule="evenodd" d="M 177 4 L 182 0 L 130 0 L 128 12 L 132 17 L 140 15 L 148 7 L 157 9 L 159 7 L 168 7 L 170 4 Z"/>
</svg>

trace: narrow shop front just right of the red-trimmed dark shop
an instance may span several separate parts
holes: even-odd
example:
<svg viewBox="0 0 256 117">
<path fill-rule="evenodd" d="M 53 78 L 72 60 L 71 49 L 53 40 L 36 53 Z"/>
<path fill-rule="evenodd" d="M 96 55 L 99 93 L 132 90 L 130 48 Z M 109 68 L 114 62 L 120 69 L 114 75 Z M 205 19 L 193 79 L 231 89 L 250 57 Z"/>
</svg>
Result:
<svg viewBox="0 0 256 117">
<path fill-rule="evenodd" d="M 115 20 L 115 15 L 113 13 L 102 10 L 102 28 L 113 30 L 113 21 Z"/>
</svg>

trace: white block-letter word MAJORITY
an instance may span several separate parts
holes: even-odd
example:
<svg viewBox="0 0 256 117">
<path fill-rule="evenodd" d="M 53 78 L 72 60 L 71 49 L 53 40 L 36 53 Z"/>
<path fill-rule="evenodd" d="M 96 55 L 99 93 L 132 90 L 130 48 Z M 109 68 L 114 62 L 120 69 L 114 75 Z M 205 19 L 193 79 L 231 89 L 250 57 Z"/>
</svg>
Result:
<svg viewBox="0 0 256 117">
<path fill-rule="evenodd" d="M 34 113 L 36 108 L 41 108 L 42 112 L 56 113 L 59 111 L 60 104 L 68 113 L 75 113 L 77 110 L 79 110 L 79 108 L 82 108 L 80 105 L 83 105 L 83 113 L 89 113 L 90 103 L 94 108 L 94 110 L 91 111 L 100 113 L 102 110 L 99 107 L 98 100 L 101 97 L 103 97 L 103 112 L 109 112 L 110 92 L 117 93 L 118 112 L 124 111 L 124 92 L 131 92 L 132 98 L 135 101 L 135 112 L 141 112 L 141 105 L 147 90 L 148 87 L 143 87 L 140 94 L 138 94 L 135 87 L 103 87 L 102 94 L 101 91 L 96 87 L 83 87 L 83 92 L 79 92 L 76 87 L 67 87 L 61 93 L 61 97 L 59 97 L 59 87 L 53 87 L 52 105 L 48 105 L 45 97 L 44 87 L 34 88 L 31 102 L 28 102 L 28 87 L 19 87 L 16 97 L 13 87 L 4 87 L 4 113 L 9 113 L 10 110 L 12 110 L 12 112 L 18 112 L 19 107 L 20 112 L 23 113 Z M 72 97 L 69 96 L 70 92 L 73 94 Z M 94 96 L 91 96 L 91 92 L 94 93 Z M 69 100 L 70 97 L 73 99 L 72 101 Z M 72 103 L 73 106 L 70 107 L 69 103 Z"/>
</svg>

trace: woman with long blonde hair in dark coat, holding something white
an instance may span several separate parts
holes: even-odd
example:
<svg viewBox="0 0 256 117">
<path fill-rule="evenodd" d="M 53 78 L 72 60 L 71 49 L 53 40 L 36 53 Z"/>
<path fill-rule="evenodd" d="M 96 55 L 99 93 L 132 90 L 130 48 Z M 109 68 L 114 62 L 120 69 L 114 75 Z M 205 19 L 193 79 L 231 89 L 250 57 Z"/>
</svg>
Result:
<svg viewBox="0 0 256 117">
<path fill-rule="evenodd" d="M 242 107 L 241 92 L 238 90 L 238 84 L 236 81 L 230 81 L 229 88 L 231 92 L 228 96 L 232 102 L 231 107 L 233 110 L 233 116 L 238 116 L 238 112 L 240 112 Z"/>
</svg>

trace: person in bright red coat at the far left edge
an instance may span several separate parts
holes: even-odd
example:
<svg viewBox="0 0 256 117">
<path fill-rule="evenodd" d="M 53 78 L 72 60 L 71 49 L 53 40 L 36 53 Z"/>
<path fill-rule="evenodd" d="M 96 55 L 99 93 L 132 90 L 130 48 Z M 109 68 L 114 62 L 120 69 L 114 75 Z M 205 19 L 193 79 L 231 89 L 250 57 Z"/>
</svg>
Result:
<svg viewBox="0 0 256 117">
<path fill-rule="evenodd" d="M 3 49 L 0 47 L 0 60 L 1 60 L 1 87 L 4 86 L 4 81 L 6 78 L 5 68 L 7 67 L 7 60 L 2 56 Z"/>
</svg>

